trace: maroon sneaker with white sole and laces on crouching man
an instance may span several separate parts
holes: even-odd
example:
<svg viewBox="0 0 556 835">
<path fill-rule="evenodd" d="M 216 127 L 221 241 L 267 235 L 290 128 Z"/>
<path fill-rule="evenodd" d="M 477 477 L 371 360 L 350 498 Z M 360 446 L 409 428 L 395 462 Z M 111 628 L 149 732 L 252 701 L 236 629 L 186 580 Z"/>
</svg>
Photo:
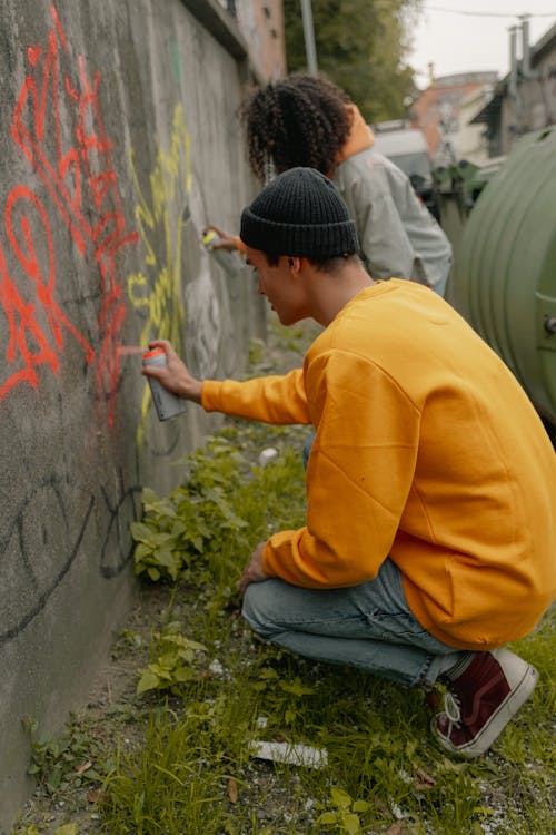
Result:
<svg viewBox="0 0 556 835">
<path fill-rule="evenodd" d="M 538 672 L 507 649 L 477 652 L 447 685 L 431 729 L 451 754 L 478 757 L 492 746 L 535 689 Z"/>
</svg>

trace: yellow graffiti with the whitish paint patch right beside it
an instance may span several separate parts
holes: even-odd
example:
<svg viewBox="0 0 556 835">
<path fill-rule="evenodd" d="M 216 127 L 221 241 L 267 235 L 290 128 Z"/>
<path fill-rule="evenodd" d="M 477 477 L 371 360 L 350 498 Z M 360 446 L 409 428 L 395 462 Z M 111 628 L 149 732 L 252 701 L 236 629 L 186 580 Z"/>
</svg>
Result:
<svg viewBox="0 0 556 835">
<path fill-rule="evenodd" d="M 182 105 L 173 110 L 168 149 L 158 139 L 155 145 L 155 165 L 148 173 L 147 187 L 141 186 L 132 149 L 129 155 L 138 197 L 135 214 L 146 258 L 145 268 L 128 278 L 128 296 L 143 320 L 142 345 L 152 338 L 165 338 L 178 350 L 183 348 L 186 317 L 195 322 L 190 360 L 201 376 L 208 376 L 216 371 L 221 312 L 195 222 L 206 217 L 206 212 L 191 169 L 191 138 Z M 139 445 L 145 440 L 149 409 L 150 391 L 146 387 L 137 431 Z M 170 442 L 172 431 L 177 431 L 176 424 L 168 428 Z"/>
</svg>

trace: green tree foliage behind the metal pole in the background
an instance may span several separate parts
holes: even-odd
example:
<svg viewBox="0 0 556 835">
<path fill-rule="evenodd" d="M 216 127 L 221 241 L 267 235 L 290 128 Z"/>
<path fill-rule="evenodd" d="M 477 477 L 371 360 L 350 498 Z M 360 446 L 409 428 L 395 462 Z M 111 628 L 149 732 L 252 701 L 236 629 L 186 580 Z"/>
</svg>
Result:
<svg viewBox="0 0 556 835">
<path fill-rule="evenodd" d="M 405 116 L 415 90 L 405 62 L 420 0 L 312 0 L 317 62 L 368 121 Z M 284 0 L 289 72 L 307 70 L 300 0 Z"/>
</svg>

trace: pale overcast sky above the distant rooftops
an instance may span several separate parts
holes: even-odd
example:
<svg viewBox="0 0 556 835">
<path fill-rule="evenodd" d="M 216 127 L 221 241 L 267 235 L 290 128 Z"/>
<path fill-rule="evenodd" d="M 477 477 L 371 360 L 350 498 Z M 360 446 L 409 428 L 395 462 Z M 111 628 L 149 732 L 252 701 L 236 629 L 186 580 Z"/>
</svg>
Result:
<svg viewBox="0 0 556 835">
<path fill-rule="evenodd" d="M 417 86 L 428 87 L 429 61 L 437 77 L 473 70 L 495 70 L 504 77 L 509 70 L 508 29 L 526 13 L 533 46 L 556 23 L 556 0 L 424 0 L 407 57 Z M 518 58 L 519 38 L 520 33 Z"/>
</svg>

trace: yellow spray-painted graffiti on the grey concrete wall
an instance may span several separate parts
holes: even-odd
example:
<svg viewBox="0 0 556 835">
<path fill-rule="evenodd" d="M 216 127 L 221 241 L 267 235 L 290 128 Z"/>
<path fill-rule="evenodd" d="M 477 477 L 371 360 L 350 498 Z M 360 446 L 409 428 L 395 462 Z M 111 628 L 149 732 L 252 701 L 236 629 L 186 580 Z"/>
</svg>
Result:
<svg viewBox="0 0 556 835">
<path fill-rule="evenodd" d="M 156 138 L 156 164 L 149 175 L 150 195 L 146 195 L 141 188 L 133 149 L 129 151 L 138 196 L 135 214 L 146 253 L 145 273 L 133 273 L 128 277 L 129 299 L 146 318 L 141 331 L 141 345 L 147 345 L 149 340 L 153 338 L 170 340 L 173 344 L 180 344 L 182 337 L 182 218 L 189 212 L 190 145 L 183 108 L 177 105 L 168 153 L 160 147 Z M 140 445 L 145 440 L 149 403 L 150 391 L 146 386 L 137 436 Z"/>
</svg>

